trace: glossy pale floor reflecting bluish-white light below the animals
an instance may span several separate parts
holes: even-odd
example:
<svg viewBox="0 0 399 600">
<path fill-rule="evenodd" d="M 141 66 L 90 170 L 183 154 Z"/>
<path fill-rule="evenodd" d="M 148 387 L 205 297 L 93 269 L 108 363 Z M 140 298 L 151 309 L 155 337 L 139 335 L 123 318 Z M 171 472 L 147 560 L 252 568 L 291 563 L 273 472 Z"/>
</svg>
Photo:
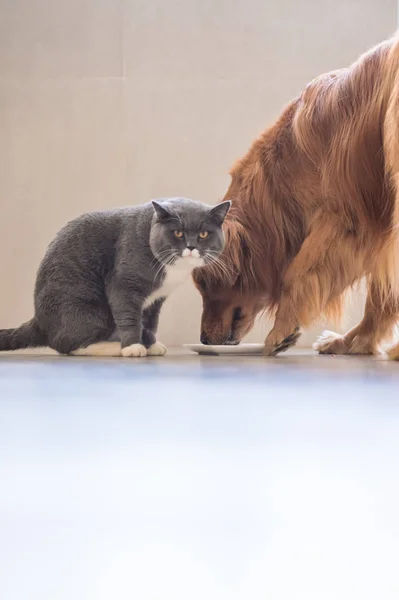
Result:
<svg viewBox="0 0 399 600">
<path fill-rule="evenodd" d="M 399 364 L 0 357 L 2 600 L 397 600 Z"/>
</svg>

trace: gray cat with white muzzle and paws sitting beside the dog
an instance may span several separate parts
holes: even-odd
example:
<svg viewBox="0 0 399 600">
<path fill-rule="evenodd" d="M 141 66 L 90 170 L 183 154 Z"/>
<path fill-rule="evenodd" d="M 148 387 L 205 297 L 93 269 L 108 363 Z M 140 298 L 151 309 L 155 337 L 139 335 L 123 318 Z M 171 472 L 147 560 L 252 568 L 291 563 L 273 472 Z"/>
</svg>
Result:
<svg viewBox="0 0 399 600">
<path fill-rule="evenodd" d="M 195 267 L 217 260 L 230 202 L 173 198 L 95 212 L 50 244 L 35 287 L 35 316 L 0 330 L 0 350 L 50 346 L 61 354 L 165 354 L 159 312 Z"/>
</svg>

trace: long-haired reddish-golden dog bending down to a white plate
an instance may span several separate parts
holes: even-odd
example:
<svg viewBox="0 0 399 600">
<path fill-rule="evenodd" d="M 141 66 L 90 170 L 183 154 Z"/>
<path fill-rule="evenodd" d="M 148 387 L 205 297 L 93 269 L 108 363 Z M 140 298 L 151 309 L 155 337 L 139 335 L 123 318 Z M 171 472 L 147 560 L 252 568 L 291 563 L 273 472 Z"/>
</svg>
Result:
<svg viewBox="0 0 399 600">
<path fill-rule="evenodd" d="M 194 275 L 203 341 L 239 341 L 272 311 L 265 354 L 276 354 L 321 314 L 339 316 L 366 277 L 363 320 L 315 347 L 377 353 L 399 316 L 399 37 L 312 81 L 231 177 L 225 252 Z"/>
</svg>

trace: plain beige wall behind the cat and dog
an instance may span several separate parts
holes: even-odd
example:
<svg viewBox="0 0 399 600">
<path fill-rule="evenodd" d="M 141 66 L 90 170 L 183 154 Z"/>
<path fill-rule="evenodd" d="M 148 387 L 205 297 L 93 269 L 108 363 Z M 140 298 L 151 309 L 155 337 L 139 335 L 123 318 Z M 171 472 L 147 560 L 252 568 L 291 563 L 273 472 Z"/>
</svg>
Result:
<svg viewBox="0 0 399 600">
<path fill-rule="evenodd" d="M 31 316 L 35 270 L 67 219 L 222 197 L 282 105 L 392 33 L 395 3 L 0 0 L 0 326 Z M 196 340 L 200 308 L 187 285 L 162 339 Z"/>
</svg>

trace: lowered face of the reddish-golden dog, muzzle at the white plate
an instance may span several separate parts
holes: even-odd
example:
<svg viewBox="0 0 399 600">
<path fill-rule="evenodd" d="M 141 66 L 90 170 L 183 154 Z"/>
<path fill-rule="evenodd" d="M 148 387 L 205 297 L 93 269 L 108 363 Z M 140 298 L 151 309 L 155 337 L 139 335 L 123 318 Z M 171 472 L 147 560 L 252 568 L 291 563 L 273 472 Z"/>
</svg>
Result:
<svg viewBox="0 0 399 600">
<path fill-rule="evenodd" d="M 202 344 L 239 344 L 251 331 L 264 304 L 259 296 L 243 294 L 237 287 L 210 281 L 204 269 L 194 271 L 194 283 L 201 293 Z"/>
</svg>

